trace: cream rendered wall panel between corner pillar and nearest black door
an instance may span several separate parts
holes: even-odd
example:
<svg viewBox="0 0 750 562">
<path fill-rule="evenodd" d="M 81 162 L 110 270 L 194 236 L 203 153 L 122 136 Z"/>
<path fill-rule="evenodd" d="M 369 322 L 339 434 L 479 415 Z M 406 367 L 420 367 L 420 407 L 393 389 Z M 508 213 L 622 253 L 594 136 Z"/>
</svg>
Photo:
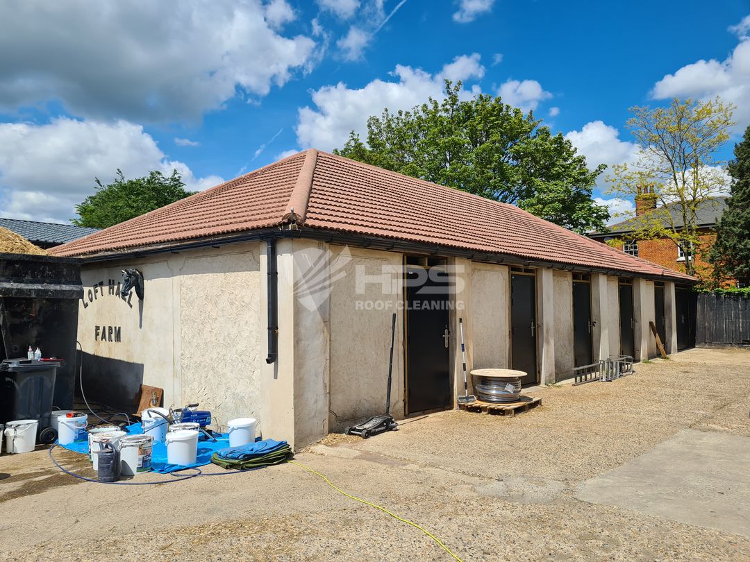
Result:
<svg viewBox="0 0 750 562">
<path fill-rule="evenodd" d="M 383 412 L 393 312 L 391 413 L 403 417 L 403 256 L 333 245 L 329 249 L 330 427 L 342 429 Z"/>
</svg>

